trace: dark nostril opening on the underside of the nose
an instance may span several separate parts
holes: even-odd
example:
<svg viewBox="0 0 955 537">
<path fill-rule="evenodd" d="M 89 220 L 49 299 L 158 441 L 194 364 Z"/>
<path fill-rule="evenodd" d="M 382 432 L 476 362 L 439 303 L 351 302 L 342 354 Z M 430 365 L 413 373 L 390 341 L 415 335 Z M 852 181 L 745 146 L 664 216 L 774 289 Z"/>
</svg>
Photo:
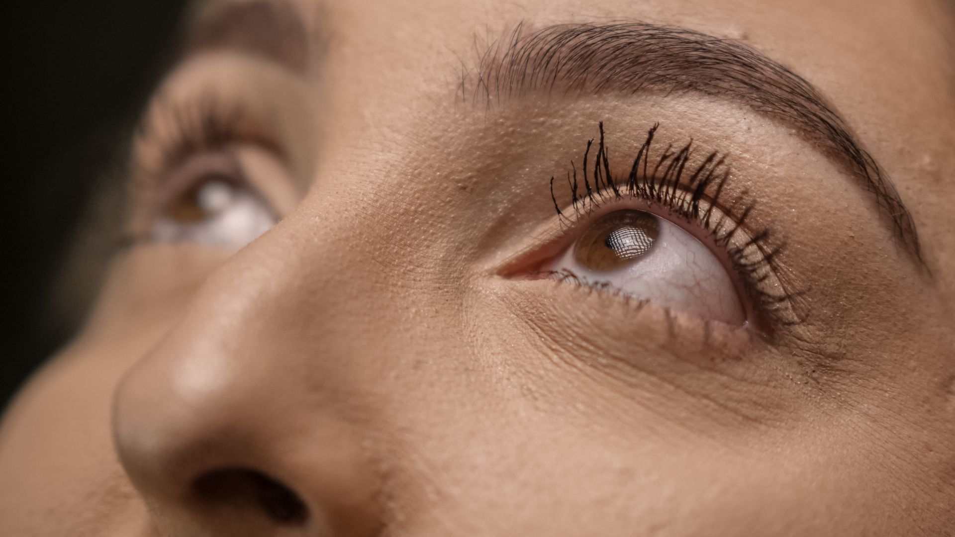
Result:
<svg viewBox="0 0 955 537">
<path fill-rule="evenodd" d="M 308 507 L 298 494 L 264 473 L 246 468 L 214 470 L 193 483 L 199 501 L 211 508 L 259 511 L 273 523 L 302 525 Z"/>
</svg>

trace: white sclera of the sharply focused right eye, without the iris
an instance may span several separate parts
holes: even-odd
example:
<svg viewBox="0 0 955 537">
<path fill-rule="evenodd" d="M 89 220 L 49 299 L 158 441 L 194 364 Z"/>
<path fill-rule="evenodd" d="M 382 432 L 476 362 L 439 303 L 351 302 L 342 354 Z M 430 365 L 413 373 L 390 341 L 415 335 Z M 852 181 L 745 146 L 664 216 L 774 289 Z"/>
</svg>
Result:
<svg viewBox="0 0 955 537">
<path fill-rule="evenodd" d="M 586 269 L 574 259 L 574 244 L 544 270 L 569 270 L 592 283 L 704 319 L 746 323 L 732 278 L 716 256 L 680 226 L 657 217 L 660 234 L 650 250 L 621 269 Z"/>
</svg>

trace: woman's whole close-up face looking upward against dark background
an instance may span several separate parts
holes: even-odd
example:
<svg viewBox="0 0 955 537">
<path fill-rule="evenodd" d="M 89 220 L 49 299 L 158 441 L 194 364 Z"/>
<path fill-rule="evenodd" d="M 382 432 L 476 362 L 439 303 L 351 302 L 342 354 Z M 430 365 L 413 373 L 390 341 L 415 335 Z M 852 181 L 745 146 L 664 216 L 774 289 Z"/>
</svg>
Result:
<svg viewBox="0 0 955 537">
<path fill-rule="evenodd" d="M 0 534 L 950 534 L 944 10 L 200 4 L 133 141 L 132 246 L 4 416 Z M 569 47 L 621 24 L 671 33 Z M 828 123 L 761 100 L 776 75 L 714 81 L 700 44 L 526 83 L 674 29 L 785 66 Z M 562 255 L 616 210 L 670 223 L 632 265 L 659 269 Z"/>
</svg>

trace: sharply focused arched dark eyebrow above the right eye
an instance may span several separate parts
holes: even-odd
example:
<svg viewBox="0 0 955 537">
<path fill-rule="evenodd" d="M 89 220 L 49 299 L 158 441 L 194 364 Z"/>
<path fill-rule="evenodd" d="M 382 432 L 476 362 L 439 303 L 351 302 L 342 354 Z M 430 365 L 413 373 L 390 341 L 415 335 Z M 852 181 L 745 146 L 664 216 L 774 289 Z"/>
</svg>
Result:
<svg viewBox="0 0 955 537">
<path fill-rule="evenodd" d="M 471 83 L 470 89 L 468 84 Z M 872 192 L 894 235 L 920 263 L 918 234 L 895 186 L 846 122 L 808 81 L 732 39 L 646 23 L 518 25 L 460 78 L 462 95 L 485 100 L 562 91 L 596 95 L 659 91 L 728 96 L 786 121 Z"/>
</svg>

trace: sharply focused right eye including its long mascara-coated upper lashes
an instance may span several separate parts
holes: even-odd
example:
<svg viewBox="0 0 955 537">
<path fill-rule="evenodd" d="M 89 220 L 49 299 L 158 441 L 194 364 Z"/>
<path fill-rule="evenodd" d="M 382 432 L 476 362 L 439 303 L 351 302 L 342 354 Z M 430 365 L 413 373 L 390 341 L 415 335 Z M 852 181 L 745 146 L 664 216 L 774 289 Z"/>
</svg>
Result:
<svg viewBox="0 0 955 537">
<path fill-rule="evenodd" d="M 584 285 L 760 333 L 772 328 L 764 314 L 795 322 L 787 308 L 792 293 L 775 275 L 780 247 L 773 233 L 745 226 L 753 209 L 745 197 L 724 199 L 732 177 L 727 157 L 712 152 L 694 162 L 692 141 L 679 151 L 672 145 L 655 150 L 658 128 L 647 131 L 635 160 L 626 162 L 628 173 L 615 175 L 601 123 L 599 143 L 587 141 L 583 168 L 571 166 L 569 204 L 558 201 L 565 196 L 551 180 L 560 240 L 545 248 L 549 255 L 532 255 L 532 262 L 508 272 Z M 597 163 L 588 166 L 592 146 Z"/>
</svg>

